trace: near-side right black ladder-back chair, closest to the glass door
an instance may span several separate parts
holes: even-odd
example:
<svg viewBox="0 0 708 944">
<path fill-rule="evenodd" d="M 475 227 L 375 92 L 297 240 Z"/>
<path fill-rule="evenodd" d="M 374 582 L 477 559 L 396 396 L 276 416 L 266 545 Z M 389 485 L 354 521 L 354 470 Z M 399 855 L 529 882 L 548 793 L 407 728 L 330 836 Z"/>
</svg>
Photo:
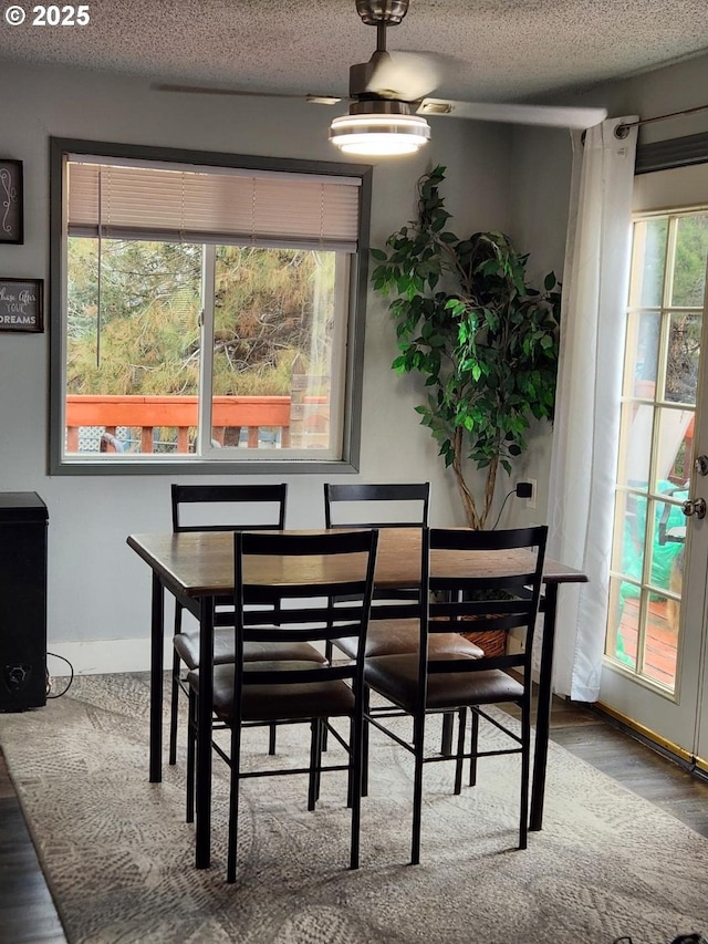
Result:
<svg viewBox="0 0 708 944">
<path fill-rule="evenodd" d="M 367 725 L 393 737 L 415 758 L 413 798 L 412 863 L 420 861 L 420 818 L 423 768 L 425 764 L 455 760 L 455 792 L 461 791 L 462 765 L 470 761 L 470 785 L 476 781 L 479 757 L 521 755 L 521 803 L 519 848 L 527 847 L 529 819 L 529 776 L 531 760 L 531 650 L 543 578 L 548 529 L 545 526 L 510 531 L 431 529 L 424 533 L 423 587 L 424 618 L 420 642 L 415 654 L 379 656 L 366 660 L 365 683 L 395 706 L 389 714 L 409 715 L 413 738 L 406 740 L 386 724 L 381 712 L 366 712 Z M 466 578 L 451 578 L 446 560 L 476 551 L 483 566 Z M 519 553 L 523 551 L 523 553 Z M 431 563 L 434 554 L 434 566 Z M 429 640 L 449 631 L 452 623 L 466 619 L 466 632 L 516 630 L 520 651 L 481 658 L 431 657 Z M 509 674 L 514 673 L 513 675 Z M 519 673 L 517 675 L 516 673 Z M 520 733 L 512 718 L 491 716 L 490 705 L 513 703 L 521 708 Z M 466 718 L 471 709 L 471 744 L 466 749 Z M 458 717 L 457 748 L 449 755 L 425 757 L 426 719 L 431 714 L 455 712 Z M 481 750 L 479 719 L 486 718 L 510 739 L 503 749 Z"/>
</svg>

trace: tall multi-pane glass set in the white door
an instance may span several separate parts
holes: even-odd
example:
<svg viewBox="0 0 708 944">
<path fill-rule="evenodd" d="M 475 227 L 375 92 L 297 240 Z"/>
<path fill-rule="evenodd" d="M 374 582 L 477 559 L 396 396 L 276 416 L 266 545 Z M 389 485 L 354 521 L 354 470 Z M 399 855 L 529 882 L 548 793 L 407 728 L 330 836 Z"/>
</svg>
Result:
<svg viewBox="0 0 708 944">
<path fill-rule="evenodd" d="M 605 655 L 645 686 L 677 678 L 708 208 L 635 218 Z"/>
</svg>

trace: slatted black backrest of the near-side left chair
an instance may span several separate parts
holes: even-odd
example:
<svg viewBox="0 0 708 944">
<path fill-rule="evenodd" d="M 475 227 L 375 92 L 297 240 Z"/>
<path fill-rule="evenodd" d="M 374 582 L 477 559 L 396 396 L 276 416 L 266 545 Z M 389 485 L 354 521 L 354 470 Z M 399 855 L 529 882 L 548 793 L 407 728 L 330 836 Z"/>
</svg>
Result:
<svg viewBox="0 0 708 944">
<path fill-rule="evenodd" d="M 351 680 L 361 694 L 378 531 L 233 536 L 237 676 L 241 685 Z M 332 603 L 346 597 L 346 605 Z M 274 615 L 275 614 L 275 615 Z M 357 637 L 346 665 L 302 671 L 243 671 L 244 642 L 327 643 Z"/>
</svg>

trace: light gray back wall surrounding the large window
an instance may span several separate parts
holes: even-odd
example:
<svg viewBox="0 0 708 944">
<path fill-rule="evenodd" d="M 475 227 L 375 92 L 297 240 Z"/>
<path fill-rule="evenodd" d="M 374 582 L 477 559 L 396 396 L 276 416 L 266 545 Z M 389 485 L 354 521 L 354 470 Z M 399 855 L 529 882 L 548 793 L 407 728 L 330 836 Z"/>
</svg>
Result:
<svg viewBox="0 0 708 944">
<path fill-rule="evenodd" d="M 25 198 L 25 242 L 0 247 L 3 277 L 49 278 L 50 135 L 336 159 L 326 141 L 334 112 L 305 103 L 170 95 L 129 77 L 9 63 L 0 63 L 0 153 L 24 162 Z M 415 181 L 438 163 L 448 167 L 448 206 L 460 230 L 506 229 L 510 224 L 511 131 L 435 121 L 425 154 L 376 166 L 374 246 L 414 216 Z M 421 388 L 395 375 L 395 355 L 386 308 L 371 297 L 361 479 L 429 479 L 433 522 L 461 522 L 454 483 L 413 408 Z M 49 332 L 0 335 L 0 491 L 35 490 L 49 507 L 50 650 L 69 654 L 80 670 L 140 667 L 146 665 L 150 581 L 125 539 L 128 533 L 169 530 L 170 479 L 49 477 L 48 364 Z M 280 479 L 277 471 L 273 478 Z M 291 527 L 323 521 L 324 480 L 302 475 L 289 480 Z M 88 645 L 107 640 L 125 642 L 100 651 Z M 59 672 L 60 665 L 53 670 Z"/>
</svg>

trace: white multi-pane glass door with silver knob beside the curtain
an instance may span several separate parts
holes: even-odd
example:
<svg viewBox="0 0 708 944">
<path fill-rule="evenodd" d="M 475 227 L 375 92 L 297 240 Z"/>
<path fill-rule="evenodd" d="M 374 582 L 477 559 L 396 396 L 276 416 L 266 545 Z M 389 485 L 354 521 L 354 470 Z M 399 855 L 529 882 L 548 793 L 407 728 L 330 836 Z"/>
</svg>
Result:
<svg viewBox="0 0 708 944">
<path fill-rule="evenodd" d="M 677 180 L 681 174 L 638 178 L 645 204 L 653 184 L 666 199 L 666 175 Z M 702 205 L 646 209 L 634 222 L 600 697 L 687 759 L 708 758 L 699 740 L 708 578 L 708 519 L 700 516 L 708 477 L 696 465 L 708 452 L 704 198 Z"/>
</svg>

